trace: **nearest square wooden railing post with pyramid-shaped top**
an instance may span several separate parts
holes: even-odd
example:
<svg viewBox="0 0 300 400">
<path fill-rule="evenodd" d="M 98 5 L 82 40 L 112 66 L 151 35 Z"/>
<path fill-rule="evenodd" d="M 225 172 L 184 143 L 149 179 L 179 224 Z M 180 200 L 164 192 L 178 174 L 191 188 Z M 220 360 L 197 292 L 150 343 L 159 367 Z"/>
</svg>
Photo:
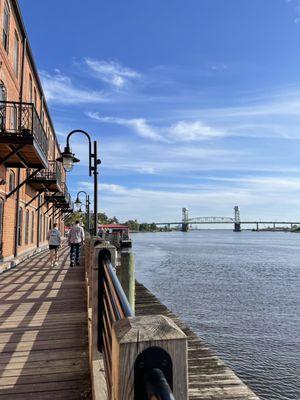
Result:
<svg viewBox="0 0 300 400">
<path fill-rule="evenodd" d="M 153 369 L 164 373 L 176 400 L 188 398 L 187 337 L 170 318 L 152 315 L 115 322 L 111 364 L 112 400 L 147 399 L 146 376 Z"/>
</svg>

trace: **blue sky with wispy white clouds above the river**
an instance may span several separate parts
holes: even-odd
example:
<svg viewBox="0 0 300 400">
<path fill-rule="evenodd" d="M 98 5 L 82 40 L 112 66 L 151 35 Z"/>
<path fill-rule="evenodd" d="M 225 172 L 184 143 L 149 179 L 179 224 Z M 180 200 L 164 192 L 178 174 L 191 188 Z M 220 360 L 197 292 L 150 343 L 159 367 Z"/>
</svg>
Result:
<svg viewBox="0 0 300 400">
<path fill-rule="evenodd" d="M 20 0 L 58 139 L 121 221 L 300 220 L 300 1 Z M 86 139 L 68 175 L 92 194 Z"/>
</svg>

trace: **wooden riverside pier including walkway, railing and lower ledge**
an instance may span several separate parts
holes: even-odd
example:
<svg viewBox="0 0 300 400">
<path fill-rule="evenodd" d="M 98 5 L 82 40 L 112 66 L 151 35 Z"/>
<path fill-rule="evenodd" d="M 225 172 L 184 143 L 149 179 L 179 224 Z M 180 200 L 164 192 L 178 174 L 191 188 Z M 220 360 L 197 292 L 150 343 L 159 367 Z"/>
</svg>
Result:
<svg viewBox="0 0 300 400">
<path fill-rule="evenodd" d="M 79 267 L 68 253 L 57 267 L 46 251 L 0 275 L 1 400 L 142 399 L 150 387 L 154 399 L 258 399 L 140 283 L 131 309 L 108 242 L 88 239 Z"/>
</svg>

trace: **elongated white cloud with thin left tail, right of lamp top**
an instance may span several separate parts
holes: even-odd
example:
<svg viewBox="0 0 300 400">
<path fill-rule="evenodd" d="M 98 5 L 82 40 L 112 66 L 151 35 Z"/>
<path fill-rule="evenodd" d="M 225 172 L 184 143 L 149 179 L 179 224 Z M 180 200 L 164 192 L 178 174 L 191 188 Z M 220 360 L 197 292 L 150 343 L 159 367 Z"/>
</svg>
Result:
<svg viewBox="0 0 300 400">
<path fill-rule="evenodd" d="M 152 126 L 143 118 L 101 117 L 97 112 L 88 112 L 87 115 L 102 123 L 130 127 L 141 137 L 166 143 L 193 142 L 224 136 L 225 134 L 201 121 L 179 121 L 170 126 Z"/>
</svg>

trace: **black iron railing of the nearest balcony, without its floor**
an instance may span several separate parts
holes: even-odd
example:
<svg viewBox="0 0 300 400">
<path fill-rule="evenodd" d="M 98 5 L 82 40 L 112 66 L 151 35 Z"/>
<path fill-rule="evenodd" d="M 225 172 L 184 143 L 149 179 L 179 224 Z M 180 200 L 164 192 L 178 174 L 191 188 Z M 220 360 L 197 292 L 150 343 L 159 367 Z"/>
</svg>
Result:
<svg viewBox="0 0 300 400">
<path fill-rule="evenodd" d="M 0 135 L 33 137 L 44 155 L 48 154 L 47 135 L 33 103 L 0 101 Z"/>
</svg>

